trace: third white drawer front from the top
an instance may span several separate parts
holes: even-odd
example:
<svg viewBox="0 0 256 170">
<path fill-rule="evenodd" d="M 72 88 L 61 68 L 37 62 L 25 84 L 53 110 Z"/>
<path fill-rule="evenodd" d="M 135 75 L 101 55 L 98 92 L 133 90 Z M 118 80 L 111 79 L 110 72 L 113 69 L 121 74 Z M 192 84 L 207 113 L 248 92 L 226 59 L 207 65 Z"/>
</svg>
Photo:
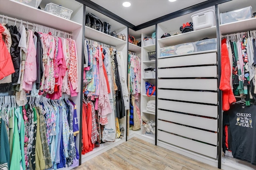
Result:
<svg viewBox="0 0 256 170">
<path fill-rule="evenodd" d="M 217 79 L 159 79 L 158 88 L 218 90 Z"/>
</svg>

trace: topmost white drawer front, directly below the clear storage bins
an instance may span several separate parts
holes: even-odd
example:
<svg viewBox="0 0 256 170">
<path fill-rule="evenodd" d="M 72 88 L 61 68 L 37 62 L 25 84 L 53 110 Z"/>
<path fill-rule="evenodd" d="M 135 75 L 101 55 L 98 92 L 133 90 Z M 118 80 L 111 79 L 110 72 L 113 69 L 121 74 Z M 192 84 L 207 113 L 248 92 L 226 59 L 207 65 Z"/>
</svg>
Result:
<svg viewBox="0 0 256 170">
<path fill-rule="evenodd" d="M 217 64 L 216 53 L 205 53 L 198 55 L 186 55 L 181 57 L 158 59 L 158 68 L 175 66 L 193 66 L 203 64 Z"/>
</svg>

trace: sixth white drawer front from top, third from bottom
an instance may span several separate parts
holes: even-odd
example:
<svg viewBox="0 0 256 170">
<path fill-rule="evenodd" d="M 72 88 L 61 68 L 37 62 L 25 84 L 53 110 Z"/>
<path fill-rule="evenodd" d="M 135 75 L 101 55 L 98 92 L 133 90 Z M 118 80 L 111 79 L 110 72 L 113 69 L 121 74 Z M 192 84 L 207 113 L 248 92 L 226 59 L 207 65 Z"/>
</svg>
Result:
<svg viewBox="0 0 256 170">
<path fill-rule="evenodd" d="M 218 119 L 208 119 L 164 110 L 158 110 L 157 118 L 210 131 L 218 131 Z"/>
</svg>

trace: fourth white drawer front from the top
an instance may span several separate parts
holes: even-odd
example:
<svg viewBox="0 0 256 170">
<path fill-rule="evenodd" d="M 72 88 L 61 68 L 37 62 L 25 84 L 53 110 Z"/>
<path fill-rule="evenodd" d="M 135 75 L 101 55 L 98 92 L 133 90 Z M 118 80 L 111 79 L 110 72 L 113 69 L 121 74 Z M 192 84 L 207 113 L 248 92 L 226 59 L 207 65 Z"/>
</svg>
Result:
<svg viewBox="0 0 256 170">
<path fill-rule="evenodd" d="M 217 92 L 193 92 L 193 91 L 158 89 L 157 93 L 158 93 L 158 98 L 163 98 L 163 99 L 218 104 Z"/>
</svg>

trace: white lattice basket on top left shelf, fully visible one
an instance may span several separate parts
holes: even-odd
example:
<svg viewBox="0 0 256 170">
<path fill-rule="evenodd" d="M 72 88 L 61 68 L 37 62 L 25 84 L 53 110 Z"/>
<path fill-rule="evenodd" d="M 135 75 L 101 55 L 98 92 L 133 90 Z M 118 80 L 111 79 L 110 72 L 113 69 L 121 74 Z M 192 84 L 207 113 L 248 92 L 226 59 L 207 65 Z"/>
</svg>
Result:
<svg viewBox="0 0 256 170">
<path fill-rule="evenodd" d="M 60 16 L 62 18 L 66 18 L 66 19 L 70 19 L 71 14 L 72 14 L 72 10 L 69 10 L 68 8 L 64 8 L 62 6 L 58 6 L 56 4 L 50 3 L 50 4 L 46 4 L 45 11 L 50 12 L 56 16 Z"/>
</svg>

